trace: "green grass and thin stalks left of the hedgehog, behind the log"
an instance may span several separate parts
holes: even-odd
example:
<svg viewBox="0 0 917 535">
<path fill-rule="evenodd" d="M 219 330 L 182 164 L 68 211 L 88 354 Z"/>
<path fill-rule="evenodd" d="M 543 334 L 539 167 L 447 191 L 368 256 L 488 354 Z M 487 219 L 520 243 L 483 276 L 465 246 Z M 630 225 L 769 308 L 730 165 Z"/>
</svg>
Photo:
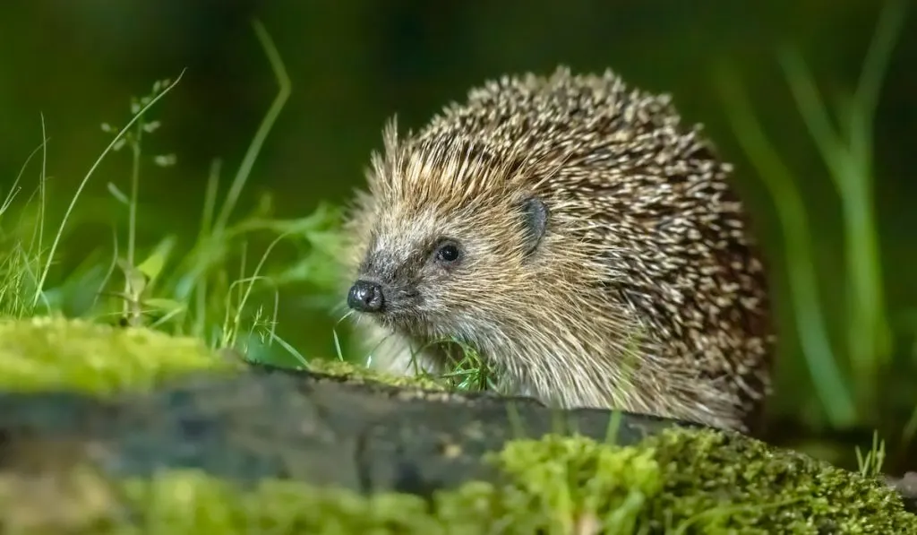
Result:
<svg viewBox="0 0 917 535">
<path fill-rule="evenodd" d="M 153 84 L 149 95 L 132 99 L 131 115 L 124 127 L 102 125 L 111 139 L 84 175 L 53 235 L 47 229 L 46 140 L 28 157 L 0 206 L 0 314 L 27 318 L 69 313 L 193 336 L 215 349 L 237 348 L 249 358 L 292 357 L 305 362 L 304 356 L 276 333 L 279 292 L 283 284 L 303 281 L 328 287 L 337 210 L 320 206 L 306 217 L 279 219 L 272 217 L 270 204 L 262 203 L 246 217 L 233 217 L 252 166 L 291 92 L 289 77 L 270 36 L 260 23 L 255 23 L 254 29 L 279 91 L 222 198 L 217 195 L 221 164 L 214 162 L 207 177 L 200 227 L 191 247 L 179 251 L 178 236 L 162 237 L 158 243 L 138 243 L 142 170 L 148 164 L 168 167 L 176 161 L 171 154 L 145 152 L 144 141 L 160 127 L 160 122 L 150 116 L 160 100 L 181 83 L 182 72 L 174 80 Z M 37 195 L 17 203 L 22 177 L 39 150 L 42 168 Z M 101 163 L 125 152 L 129 156 L 128 184 L 109 182 L 106 186 L 116 206 L 127 211 L 126 236 L 120 237 L 118 229 L 113 229 L 108 251 L 94 251 L 83 263 L 67 266 L 67 273 L 61 274 L 64 270 L 57 265 L 58 253 L 66 247 L 75 206 L 87 184 L 97 179 Z M 256 249 L 265 241 L 265 246 Z M 271 252 L 281 243 L 304 254 L 298 263 L 266 273 Z"/>
</svg>

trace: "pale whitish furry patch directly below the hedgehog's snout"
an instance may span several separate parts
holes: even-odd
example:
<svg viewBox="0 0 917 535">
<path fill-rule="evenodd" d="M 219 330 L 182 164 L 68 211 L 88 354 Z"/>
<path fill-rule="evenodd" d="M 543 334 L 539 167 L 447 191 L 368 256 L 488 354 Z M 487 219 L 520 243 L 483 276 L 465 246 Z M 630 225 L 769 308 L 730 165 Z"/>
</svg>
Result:
<svg viewBox="0 0 917 535">
<path fill-rule="evenodd" d="M 383 329 L 375 323 L 360 323 L 355 328 L 361 362 L 396 375 L 438 373 L 439 366 L 429 351 L 420 351 L 408 337 Z"/>
</svg>

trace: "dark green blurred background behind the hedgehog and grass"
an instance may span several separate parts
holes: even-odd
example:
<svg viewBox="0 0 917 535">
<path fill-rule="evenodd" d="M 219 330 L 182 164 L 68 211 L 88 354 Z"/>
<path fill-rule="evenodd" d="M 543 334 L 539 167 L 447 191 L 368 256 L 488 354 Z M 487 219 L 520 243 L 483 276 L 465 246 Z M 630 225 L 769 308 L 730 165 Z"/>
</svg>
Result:
<svg viewBox="0 0 917 535">
<path fill-rule="evenodd" d="M 917 462 L 908 460 L 917 454 L 912 429 L 905 431 L 909 422 L 917 425 L 911 418 L 917 407 L 915 10 L 908 9 L 901 22 L 875 116 L 872 204 L 892 337 L 881 350 L 888 362 L 877 357 L 874 375 L 863 377 L 845 364 L 851 329 L 843 234 L 848 215 L 777 59 L 780 47 L 796 47 L 826 101 L 835 104 L 856 88 L 882 6 L 875 0 L 8 1 L 0 7 L 0 184 L 6 195 L 41 142 L 43 117 L 50 138 L 47 226 L 53 233 L 112 138 L 100 125 L 120 128 L 130 117 L 131 96 L 146 95 L 154 81 L 187 69 L 149 112 L 161 127 L 143 141 L 145 158 L 174 154 L 175 164 L 144 161 L 137 206 L 138 251 L 149 252 L 167 236 L 178 240 L 176 251 L 187 250 L 198 232 L 212 162 L 222 159 L 225 195 L 277 92 L 252 29 L 255 17 L 270 32 L 293 92 L 254 164 L 237 218 L 259 206 L 268 210 L 259 213 L 287 220 L 314 214 L 323 204 L 341 206 L 362 184 L 370 150 L 381 146 L 381 128 L 393 114 L 402 128 L 416 128 L 470 86 L 503 72 L 550 72 L 559 63 L 575 71 L 611 67 L 631 84 L 674 95 L 686 121 L 702 122 L 738 166 L 737 186 L 773 266 L 783 333 L 771 438 L 834 459 L 836 448 L 821 448 L 840 444 L 849 456 L 851 444 L 868 446 L 871 429 L 878 428 L 898 465 L 912 467 Z M 747 157 L 724 105 L 723 73 L 742 85 L 800 191 L 820 310 L 844 381 L 854 390 L 857 381 L 868 382 L 860 388 L 867 394 L 856 401 L 860 414 L 843 425 L 830 418 L 832 403 L 816 394 L 823 378 L 812 375 L 799 343 L 805 327 L 790 304 L 786 266 L 802 261 L 785 247 L 777 210 L 789 201 L 771 195 L 767 177 Z M 64 287 L 74 273 L 83 273 L 71 284 L 77 289 L 61 301 L 68 313 L 85 311 L 83 302 L 105 271 L 92 265 L 110 262 L 113 230 L 121 247 L 127 240 L 127 210 L 108 183 L 126 192 L 129 176 L 127 151 L 109 154 L 75 205 L 48 282 Z M 19 199 L 38 183 L 33 162 L 21 179 Z M 252 238 L 249 271 L 272 238 Z M 271 308 L 279 295 L 278 336 L 307 357 L 333 357 L 340 313 L 330 306 L 341 296 L 328 295 L 327 273 L 315 274 L 319 261 L 307 241 L 271 252 L 266 273 L 286 273 L 280 277 L 286 284 L 279 294 L 256 292 L 251 302 Z M 297 263 L 306 257 L 315 262 Z M 346 329 L 339 330 L 346 346 Z M 281 358 L 294 362 L 286 353 Z"/>
</svg>

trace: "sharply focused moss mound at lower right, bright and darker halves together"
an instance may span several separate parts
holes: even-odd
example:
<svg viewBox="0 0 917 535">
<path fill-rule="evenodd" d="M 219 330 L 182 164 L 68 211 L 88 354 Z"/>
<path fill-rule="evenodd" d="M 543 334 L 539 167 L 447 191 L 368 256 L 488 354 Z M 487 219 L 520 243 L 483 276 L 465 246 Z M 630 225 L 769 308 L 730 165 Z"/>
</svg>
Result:
<svg viewBox="0 0 917 535">
<path fill-rule="evenodd" d="M 634 447 L 520 440 L 494 460 L 498 485 L 439 498 L 484 518 L 481 532 L 917 533 L 877 479 L 718 431 L 669 429 Z"/>
</svg>

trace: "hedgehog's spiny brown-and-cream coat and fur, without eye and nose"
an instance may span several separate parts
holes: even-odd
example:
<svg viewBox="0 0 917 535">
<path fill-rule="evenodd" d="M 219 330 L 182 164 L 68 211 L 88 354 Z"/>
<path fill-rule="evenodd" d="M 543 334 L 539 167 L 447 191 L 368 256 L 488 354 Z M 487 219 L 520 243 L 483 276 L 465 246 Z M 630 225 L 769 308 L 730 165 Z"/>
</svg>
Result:
<svg viewBox="0 0 917 535">
<path fill-rule="evenodd" d="M 512 393 L 748 430 L 769 391 L 768 284 L 700 130 L 668 95 L 563 67 L 472 89 L 406 139 L 392 120 L 346 226 L 347 284 L 376 277 L 403 304 L 360 315 L 374 362 L 407 371 L 426 345 L 424 369 L 444 370 L 428 342 L 452 337 Z M 548 216 L 528 251 L 532 197 Z M 458 265 L 430 260 L 442 237 Z"/>
</svg>

